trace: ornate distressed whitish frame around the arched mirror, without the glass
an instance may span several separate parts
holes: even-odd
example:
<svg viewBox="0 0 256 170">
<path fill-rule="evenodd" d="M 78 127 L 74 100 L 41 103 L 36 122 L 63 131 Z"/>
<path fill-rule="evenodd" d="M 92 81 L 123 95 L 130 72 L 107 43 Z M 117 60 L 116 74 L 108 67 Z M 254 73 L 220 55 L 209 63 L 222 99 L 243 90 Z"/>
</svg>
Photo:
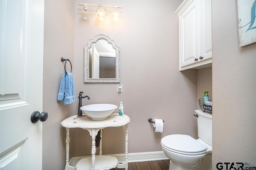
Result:
<svg viewBox="0 0 256 170">
<path fill-rule="evenodd" d="M 94 46 L 94 44 L 98 40 L 106 40 L 108 44 L 111 44 L 115 51 L 115 77 L 114 78 L 95 78 L 92 77 L 92 59 L 90 59 L 90 49 Z M 105 52 L 99 52 L 105 53 Z M 120 47 L 116 45 L 114 40 L 110 39 L 108 36 L 104 34 L 98 34 L 94 38 L 90 39 L 87 45 L 84 45 L 84 82 L 85 83 L 120 83 L 120 75 L 119 75 L 119 65 L 120 65 Z M 99 66 L 98 66 L 99 67 Z"/>
</svg>

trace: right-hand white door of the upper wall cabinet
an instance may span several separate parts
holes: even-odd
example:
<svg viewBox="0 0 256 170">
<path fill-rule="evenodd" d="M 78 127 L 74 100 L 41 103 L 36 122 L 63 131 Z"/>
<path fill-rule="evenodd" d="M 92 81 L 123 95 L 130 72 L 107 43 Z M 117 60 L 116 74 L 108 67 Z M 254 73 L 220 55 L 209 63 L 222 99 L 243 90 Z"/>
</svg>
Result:
<svg viewBox="0 0 256 170">
<path fill-rule="evenodd" d="M 212 0 L 199 1 L 200 13 L 200 61 L 212 58 Z"/>
</svg>

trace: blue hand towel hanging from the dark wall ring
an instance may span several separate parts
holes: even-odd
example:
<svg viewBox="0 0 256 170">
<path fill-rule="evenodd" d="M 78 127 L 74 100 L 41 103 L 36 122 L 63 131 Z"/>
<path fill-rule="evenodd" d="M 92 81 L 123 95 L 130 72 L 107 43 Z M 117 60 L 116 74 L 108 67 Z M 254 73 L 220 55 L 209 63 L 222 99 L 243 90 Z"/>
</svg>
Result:
<svg viewBox="0 0 256 170">
<path fill-rule="evenodd" d="M 64 101 L 64 105 L 75 102 L 74 79 L 72 73 L 68 71 L 62 75 L 57 100 Z"/>
</svg>

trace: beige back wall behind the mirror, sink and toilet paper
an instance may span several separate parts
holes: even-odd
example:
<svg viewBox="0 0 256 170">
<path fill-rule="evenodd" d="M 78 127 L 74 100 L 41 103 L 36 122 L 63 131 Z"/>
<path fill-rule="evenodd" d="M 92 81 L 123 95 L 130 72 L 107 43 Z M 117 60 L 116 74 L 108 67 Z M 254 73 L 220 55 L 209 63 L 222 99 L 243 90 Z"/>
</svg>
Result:
<svg viewBox="0 0 256 170">
<path fill-rule="evenodd" d="M 76 0 L 76 4 L 83 0 Z M 87 1 L 100 4 L 100 0 Z M 74 75 L 76 94 L 84 91 L 90 100 L 83 104 L 124 102 L 124 113 L 131 119 L 129 124 L 128 152 L 162 150 L 160 140 L 173 133 L 196 137 L 196 70 L 178 71 L 178 15 L 176 8 L 182 0 L 161 3 L 156 1 L 114 1 L 108 4 L 123 6 L 122 20 L 99 22 L 82 20 L 80 6 L 75 6 Z M 146 5 L 145 5 L 146 4 Z M 110 14 L 111 14 L 111 10 Z M 83 47 L 97 34 L 106 34 L 120 46 L 120 77 L 123 92 L 116 91 L 116 84 L 83 83 Z M 184 107 L 186 105 L 186 107 Z M 154 133 L 148 118 L 165 121 L 164 132 Z M 139 129 L 139 130 L 138 130 Z M 85 134 L 85 135 L 81 135 Z M 72 156 L 90 155 L 91 139 L 88 132 L 76 130 L 77 139 L 72 144 Z M 80 140 L 78 140 L 80 138 Z M 103 154 L 124 153 L 124 127 L 106 128 L 103 132 Z M 104 147 L 105 146 L 105 147 Z"/>
</svg>

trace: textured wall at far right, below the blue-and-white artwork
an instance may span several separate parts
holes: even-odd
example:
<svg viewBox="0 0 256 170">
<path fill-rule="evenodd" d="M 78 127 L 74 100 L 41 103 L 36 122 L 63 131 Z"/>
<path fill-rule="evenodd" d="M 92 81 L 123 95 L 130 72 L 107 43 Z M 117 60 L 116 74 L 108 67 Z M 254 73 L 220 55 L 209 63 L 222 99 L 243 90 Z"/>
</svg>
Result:
<svg viewBox="0 0 256 170">
<path fill-rule="evenodd" d="M 239 47 L 237 1 L 212 1 L 213 169 L 256 165 L 256 43 Z"/>
</svg>

